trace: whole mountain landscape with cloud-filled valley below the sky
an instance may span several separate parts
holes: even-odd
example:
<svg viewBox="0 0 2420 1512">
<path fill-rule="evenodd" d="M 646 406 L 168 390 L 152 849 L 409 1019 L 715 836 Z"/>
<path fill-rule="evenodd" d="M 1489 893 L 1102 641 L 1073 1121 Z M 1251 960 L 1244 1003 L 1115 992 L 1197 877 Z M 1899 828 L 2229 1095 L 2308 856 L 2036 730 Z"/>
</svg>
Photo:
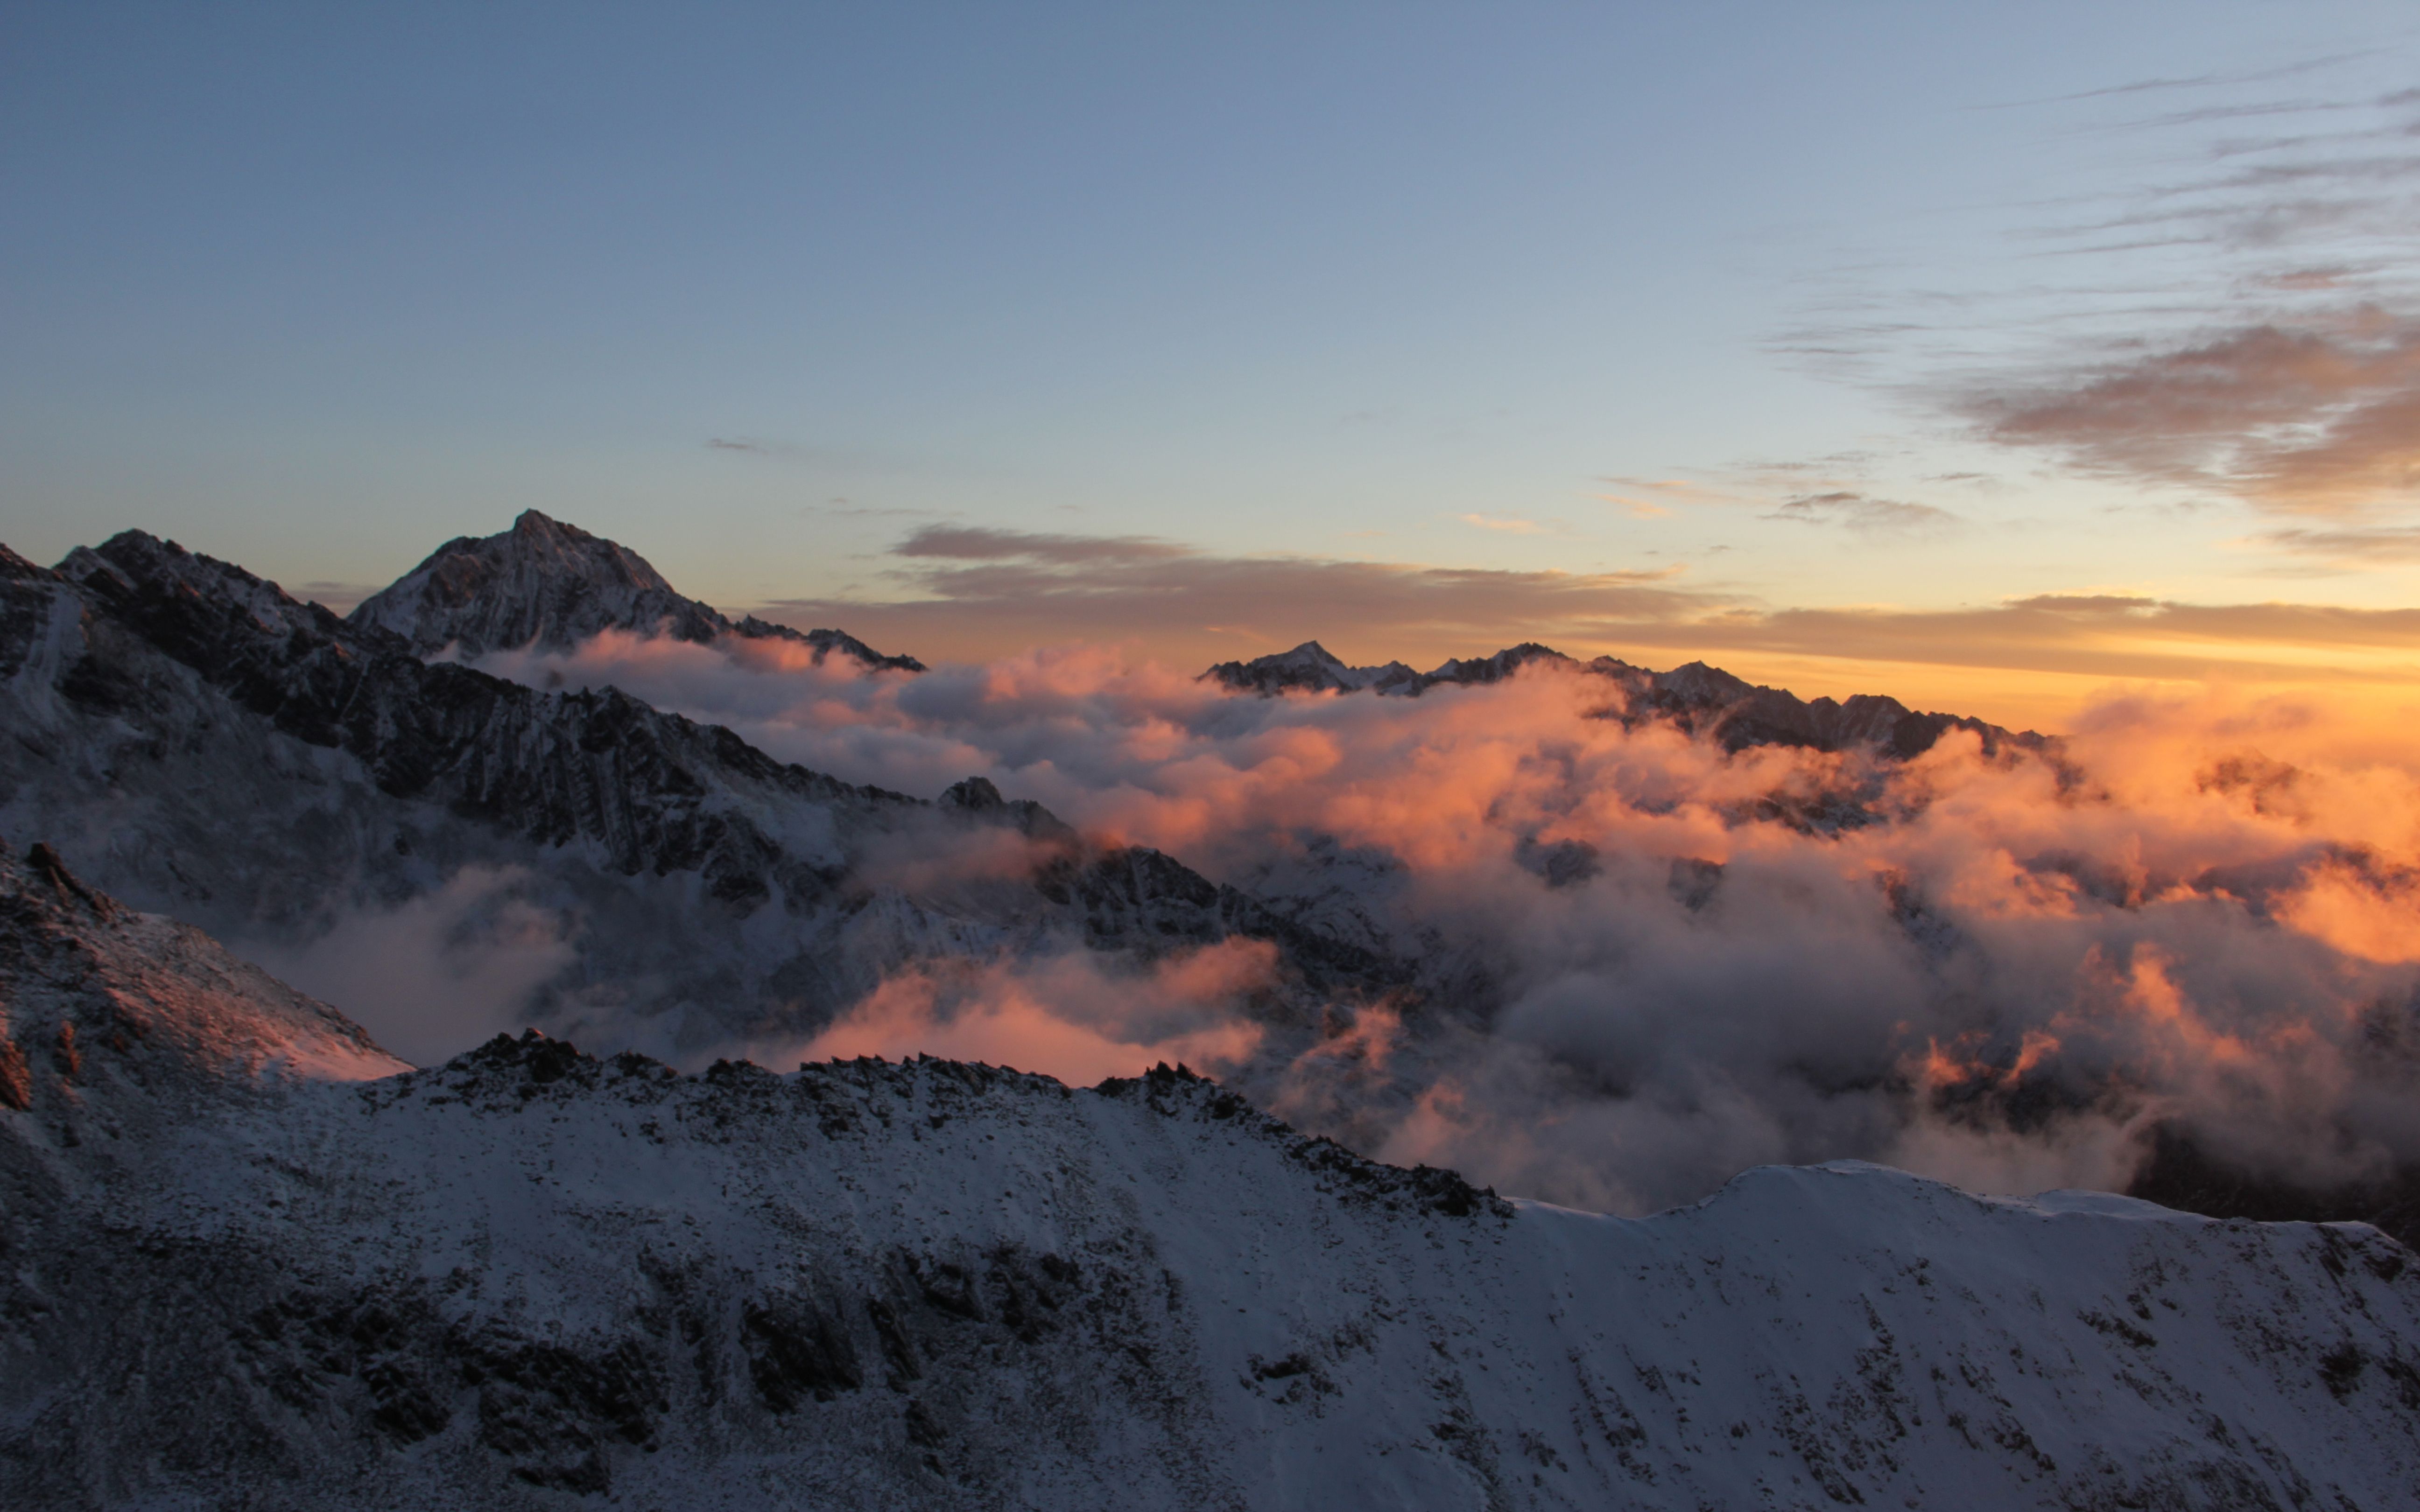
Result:
<svg viewBox="0 0 2420 1512">
<path fill-rule="evenodd" d="M 537 513 L 348 617 L 0 549 L 0 1500 L 2413 1505 L 2420 992 L 2311 902 L 2410 878 L 2318 777 L 1089 665 Z"/>
</svg>

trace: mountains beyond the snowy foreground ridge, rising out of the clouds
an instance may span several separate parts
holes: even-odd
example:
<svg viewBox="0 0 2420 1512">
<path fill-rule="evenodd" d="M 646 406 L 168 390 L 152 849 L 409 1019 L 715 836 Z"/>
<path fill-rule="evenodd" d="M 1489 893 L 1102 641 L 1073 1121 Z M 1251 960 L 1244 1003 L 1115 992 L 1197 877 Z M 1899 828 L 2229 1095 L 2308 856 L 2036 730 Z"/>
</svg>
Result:
<svg viewBox="0 0 2420 1512">
<path fill-rule="evenodd" d="M 448 542 L 344 619 L 143 532 L 58 569 L 0 547 L 12 728 L 0 835 L 41 839 L 102 888 L 271 965 L 351 953 L 346 980 L 375 982 L 414 956 L 523 946 L 511 958 L 528 968 L 499 973 L 477 1011 L 407 1004 L 409 1023 L 387 1033 L 414 1060 L 537 1023 L 695 1067 L 806 1043 L 900 970 L 1070 958 L 1120 982 L 1234 941 L 1266 948 L 1270 970 L 1234 999 L 1261 1040 L 1227 1079 L 1300 1113 L 1329 1108 L 1321 1130 L 1360 1139 L 1469 1055 L 1520 973 L 1486 939 L 1404 914 L 1396 861 L 1321 837 L 1285 868 L 1212 881 L 1150 847 L 1091 842 L 980 777 L 937 798 L 849 784 L 615 687 L 525 687 L 465 665 L 472 648 L 576 646 L 607 629 L 837 648 L 871 677 L 922 675 L 837 629 L 731 622 L 634 552 L 535 510 L 503 535 Z M 1602 680 L 1609 719 L 1663 721 L 1725 752 L 1798 745 L 1888 769 L 1963 728 L 1984 760 L 2062 762 L 2057 740 L 1895 699 L 1800 702 L 1701 663 L 1646 673 L 1534 644 L 1396 675 L 1399 663 L 1346 668 L 1314 641 L 1203 680 L 1263 697 L 1421 697 L 1534 663 Z M 1844 772 L 1844 789 L 1776 791 L 1740 813 L 1815 835 L 1890 823 L 1876 779 Z M 1520 839 L 1515 859 L 1549 888 L 1600 868 L 1575 839 Z M 1721 878 L 1675 861 L 1672 895 L 1699 910 Z M 2260 895 L 2258 881 L 2229 885 Z M 453 912 L 421 934 L 397 924 L 433 902 Z M 1914 946 L 1938 948 L 1926 910 L 1895 917 Z M 365 941 L 363 922 L 397 929 Z M 436 977 L 460 1004 L 477 987 L 460 970 Z M 1404 1026 L 1392 1060 L 1309 1055 L 1372 1011 Z M 1350 1098 L 1319 1077 L 1348 1079 Z M 2420 1239 L 2420 1168 L 2280 1181 L 2176 1127 L 2159 1130 L 2132 1190 L 2214 1214 L 2362 1217 Z"/>
</svg>

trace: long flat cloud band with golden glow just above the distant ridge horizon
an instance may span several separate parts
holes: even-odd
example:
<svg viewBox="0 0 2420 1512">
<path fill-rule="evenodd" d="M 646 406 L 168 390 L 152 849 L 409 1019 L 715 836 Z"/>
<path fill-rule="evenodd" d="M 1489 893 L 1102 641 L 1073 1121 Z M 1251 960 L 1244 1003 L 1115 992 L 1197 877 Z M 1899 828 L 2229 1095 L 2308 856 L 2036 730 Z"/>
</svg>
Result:
<svg viewBox="0 0 2420 1512">
<path fill-rule="evenodd" d="M 2420 542 L 2384 532 L 2389 549 Z M 1171 665 L 1319 639 L 1358 660 L 1442 660 L 1544 641 L 1650 665 L 1786 656 L 2088 677 L 2413 682 L 2420 610 L 2195 605 L 2132 593 L 2033 595 L 1953 610 L 1774 610 L 1754 595 L 1655 571 L 1474 571 L 1333 556 L 1220 556 L 1128 537 L 917 532 L 893 590 L 784 600 L 765 612 L 840 624 L 927 660 L 992 660 L 1077 639 L 1120 641 Z M 2318 532 L 2304 549 L 2321 549 Z M 2355 549 L 2352 535 L 2333 542 Z"/>
</svg>

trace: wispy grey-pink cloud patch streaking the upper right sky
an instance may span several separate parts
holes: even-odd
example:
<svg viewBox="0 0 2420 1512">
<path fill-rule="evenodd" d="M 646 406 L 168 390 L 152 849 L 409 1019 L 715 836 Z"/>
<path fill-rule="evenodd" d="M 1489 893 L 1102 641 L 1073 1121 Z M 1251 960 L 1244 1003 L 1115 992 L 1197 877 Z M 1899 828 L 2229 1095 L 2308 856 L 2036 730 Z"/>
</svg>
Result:
<svg viewBox="0 0 2420 1512">
<path fill-rule="evenodd" d="M 2405 53 L 2016 102 L 2084 189 L 1996 210 L 2016 256 L 1972 273 L 1844 261 L 1771 346 L 2088 477 L 2379 525 L 2420 503 L 2420 92 L 2379 87 Z"/>
</svg>

